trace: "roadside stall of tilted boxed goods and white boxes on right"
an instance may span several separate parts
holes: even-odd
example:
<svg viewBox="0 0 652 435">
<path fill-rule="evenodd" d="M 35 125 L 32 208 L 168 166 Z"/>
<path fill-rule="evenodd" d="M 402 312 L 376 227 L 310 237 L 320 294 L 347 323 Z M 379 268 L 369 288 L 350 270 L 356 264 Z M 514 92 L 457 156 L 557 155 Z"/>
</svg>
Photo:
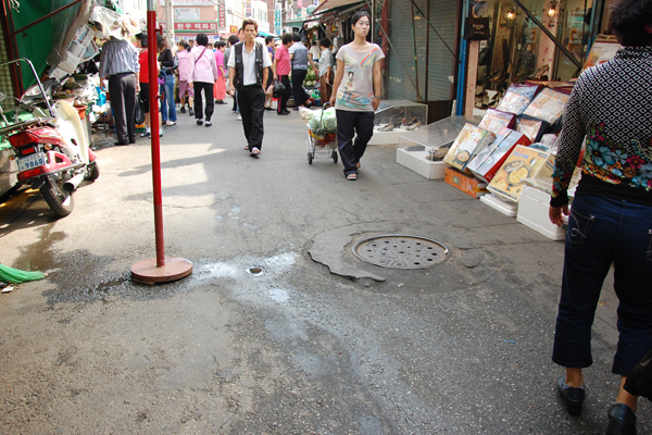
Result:
<svg viewBox="0 0 652 435">
<path fill-rule="evenodd" d="M 612 37 L 600 36 L 580 71 L 612 59 L 617 48 Z M 563 239 L 565 229 L 550 223 L 548 206 L 574 85 L 575 80 L 512 83 L 484 116 L 452 116 L 402 136 L 397 161 L 427 178 L 443 178 L 551 239 Z M 578 167 L 570 198 L 579 177 Z"/>
</svg>

